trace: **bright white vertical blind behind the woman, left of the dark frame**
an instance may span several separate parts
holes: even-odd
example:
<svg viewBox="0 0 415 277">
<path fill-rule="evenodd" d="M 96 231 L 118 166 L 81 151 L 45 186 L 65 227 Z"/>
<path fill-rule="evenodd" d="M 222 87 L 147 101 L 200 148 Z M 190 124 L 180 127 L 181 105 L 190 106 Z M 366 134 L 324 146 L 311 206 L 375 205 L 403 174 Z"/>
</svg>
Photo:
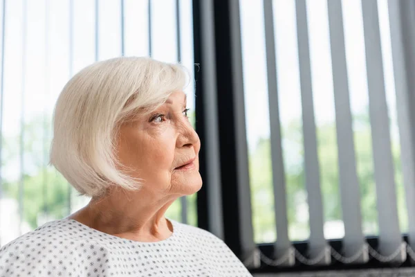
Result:
<svg viewBox="0 0 415 277">
<path fill-rule="evenodd" d="M 194 62 L 191 0 L 3 0 L 0 9 L 1 246 L 89 201 L 48 166 L 53 107 L 73 74 L 121 55 L 181 62 L 192 111 Z M 181 197 L 167 216 L 196 225 L 195 199 Z"/>
</svg>

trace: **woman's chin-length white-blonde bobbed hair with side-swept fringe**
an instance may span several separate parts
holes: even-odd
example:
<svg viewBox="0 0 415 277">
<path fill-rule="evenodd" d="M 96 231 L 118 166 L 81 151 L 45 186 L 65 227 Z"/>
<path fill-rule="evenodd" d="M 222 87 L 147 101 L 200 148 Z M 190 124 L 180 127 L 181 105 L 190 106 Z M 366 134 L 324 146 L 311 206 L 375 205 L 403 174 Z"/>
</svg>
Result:
<svg viewBox="0 0 415 277">
<path fill-rule="evenodd" d="M 183 90 L 187 77 L 180 64 L 148 57 L 117 57 L 82 69 L 57 99 L 50 164 L 81 195 L 97 197 L 112 185 L 140 189 L 140 179 L 116 158 L 119 127 Z"/>
</svg>

